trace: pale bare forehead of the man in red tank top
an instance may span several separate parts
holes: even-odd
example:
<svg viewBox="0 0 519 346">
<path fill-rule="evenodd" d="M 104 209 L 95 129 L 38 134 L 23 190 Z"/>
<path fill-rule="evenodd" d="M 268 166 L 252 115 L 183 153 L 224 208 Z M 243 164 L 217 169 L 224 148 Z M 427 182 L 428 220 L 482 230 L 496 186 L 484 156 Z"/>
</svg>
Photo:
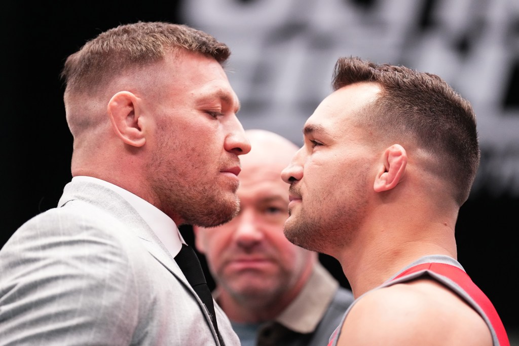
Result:
<svg viewBox="0 0 519 346">
<path fill-rule="evenodd" d="M 308 118 L 304 134 L 341 132 L 356 112 L 373 102 L 379 92 L 378 84 L 368 82 L 337 89 L 327 96 Z"/>
</svg>

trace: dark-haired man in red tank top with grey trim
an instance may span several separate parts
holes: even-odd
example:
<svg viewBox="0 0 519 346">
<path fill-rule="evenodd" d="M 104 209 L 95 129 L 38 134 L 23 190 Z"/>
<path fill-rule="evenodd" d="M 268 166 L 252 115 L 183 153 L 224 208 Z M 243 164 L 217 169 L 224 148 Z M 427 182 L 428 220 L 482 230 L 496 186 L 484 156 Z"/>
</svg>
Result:
<svg viewBox="0 0 519 346">
<path fill-rule="evenodd" d="M 339 260 L 356 298 L 330 345 L 509 345 L 457 262 L 480 162 L 470 103 L 436 75 L 353 57 L 333 87 L 282 172 L 285 236 Z"/>
</svg>

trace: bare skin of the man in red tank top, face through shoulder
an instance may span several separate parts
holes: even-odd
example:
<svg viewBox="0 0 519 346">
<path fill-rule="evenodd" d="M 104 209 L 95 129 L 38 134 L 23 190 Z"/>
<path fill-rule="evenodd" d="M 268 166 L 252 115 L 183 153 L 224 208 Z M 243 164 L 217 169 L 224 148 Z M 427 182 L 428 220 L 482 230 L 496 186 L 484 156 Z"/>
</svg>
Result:
<svg viewBox="0 0 519 346">
<path fill-rule="evenodd" d="M 423 168 L 409 138 L 363 126 L 380 86 L 361 82 L 325 98 L 308 118 L 304 146 L 282 172 L 290 187 L 284 233 L 296 245 L 339 260 L 354 297 L 339 345 L 491 345 L 483 319 L 428 279 L 374 291 L 426 255 L 456 258 L 458 205 Z"/>
</svg>

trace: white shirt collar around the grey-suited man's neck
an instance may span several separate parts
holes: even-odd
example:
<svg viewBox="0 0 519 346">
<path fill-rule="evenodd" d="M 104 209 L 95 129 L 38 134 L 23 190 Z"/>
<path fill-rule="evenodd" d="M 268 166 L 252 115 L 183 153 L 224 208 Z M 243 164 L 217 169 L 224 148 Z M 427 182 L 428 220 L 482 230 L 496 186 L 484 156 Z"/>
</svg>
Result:
<svg viewBox="0 0 519 346">
<path fill-rule="evenodd" d="M 155 233 L 166 249 L 168 249 L 171 256 L 175 257 L 179 253 L 182 243 L 185 243 L 179 229 L 169 216 L 164 214 L 153 204 L 148 203 L 141 197 L 105 180 L 86 176 L 73 177 L 72 180 L 79 182 L 94 182 L 119 194 L 133 208 L 135 208 L 135 210 L 137 210 L 139 215 L 148 224 L 149 228 L 152 229 L 153 233 Z"/>
</svg>

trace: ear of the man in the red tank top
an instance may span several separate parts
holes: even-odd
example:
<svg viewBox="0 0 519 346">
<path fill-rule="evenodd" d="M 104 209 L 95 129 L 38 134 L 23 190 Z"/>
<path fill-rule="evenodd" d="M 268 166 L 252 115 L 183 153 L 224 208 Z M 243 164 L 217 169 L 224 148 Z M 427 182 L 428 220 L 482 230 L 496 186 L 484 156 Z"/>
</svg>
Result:
<svg viewBox="0 0 519 346">
<path fill-rule="evenodd" d="M 407 164 L 407 153 L 400 144 L 393 144 L 384 151 L 380 169 L 373 189 L 375 192 L 388 191 L 402 181 Z"/>
</svg>

